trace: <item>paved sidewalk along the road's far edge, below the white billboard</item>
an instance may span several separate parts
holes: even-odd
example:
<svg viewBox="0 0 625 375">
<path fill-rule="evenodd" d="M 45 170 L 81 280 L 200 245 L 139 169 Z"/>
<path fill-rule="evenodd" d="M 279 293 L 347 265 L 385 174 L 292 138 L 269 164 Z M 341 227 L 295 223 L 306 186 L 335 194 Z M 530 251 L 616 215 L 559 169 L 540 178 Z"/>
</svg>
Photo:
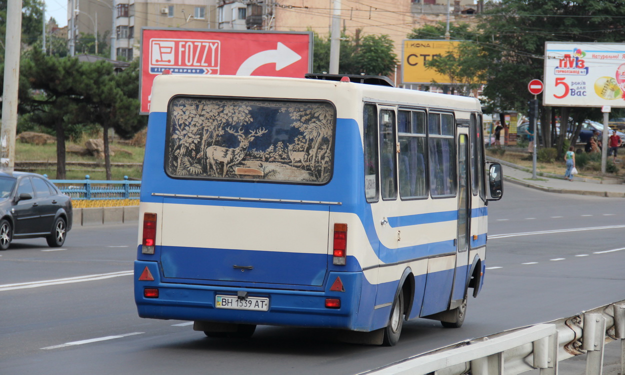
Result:
<svg viewBox="0 0 625 375">
<path fill-rule="evenodd" d="M 532 170 L 525 169 L 506 161 L 487 157 L 488 161 L 500 163 L 502 166 L 504 180 L 509 183 L 519 184 L 534 189 L 559 192 L 561 194 L 580 194 L 601 197 L 625 197 L 625 184 L 623 181 L 614 179 L 579 178 L 574 177 L 573 181 L 564 179 L 564 175 L 536 172 L 536 179 L 532 179 Z M 542 174 L 542 175 L 541 175 Z M 504 190 L 505 191 L 505 190 Z"/>
</svg>

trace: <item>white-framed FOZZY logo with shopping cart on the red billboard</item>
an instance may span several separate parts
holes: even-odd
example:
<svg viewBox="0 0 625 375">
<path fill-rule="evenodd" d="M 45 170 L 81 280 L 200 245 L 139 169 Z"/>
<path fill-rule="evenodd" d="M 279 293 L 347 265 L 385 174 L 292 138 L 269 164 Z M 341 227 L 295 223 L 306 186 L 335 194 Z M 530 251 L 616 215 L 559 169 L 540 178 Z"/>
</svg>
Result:
<svg viewBox="0 0 625 375">
<path fill-rule="evenodd" d="M 219 74 L 219 41 L 151 39 L 149 70 L 161 74 Z"/>
</svg>

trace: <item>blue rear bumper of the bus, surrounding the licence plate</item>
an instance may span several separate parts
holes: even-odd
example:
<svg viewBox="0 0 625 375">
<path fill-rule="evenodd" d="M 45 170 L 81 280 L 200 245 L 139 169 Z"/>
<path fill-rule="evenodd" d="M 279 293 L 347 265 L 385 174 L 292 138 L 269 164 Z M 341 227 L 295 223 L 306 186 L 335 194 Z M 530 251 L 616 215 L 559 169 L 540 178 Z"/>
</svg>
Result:
<svg viewBox="0 0 625 375">
<path fill-rule="evenodd" d="M 154 281 L 140 281 L 139 277 L 148 267 Z M 140 317 L 152 319 L 177 319 L 185 321 L 209 321 L 239 324 L 261 324 L 296 327 L 324 327 L 371 330 L 371 317 L 359 321 L 359 307 L 371 303 L 362 292 L 362 272 L 331 272 L 322 291 L 291 289 L 256 289 L 249 287 L 222 287 L 199 284 L 162 282 L 157 262 L 134 262 L 134 297 Z M 331 291 L 340 276 L 342 291 Z M 364 281 L 365 289 L 372 287 Z M 286 286 L 280 286 L 286 287 Z M 144 296 L 145 289 L 158 289 L 158 297 Z M 267 311 L 224 309 L 216 307 L 216 296 L 237 296 L 247 292 L 248 297 L 267 298 Z M 326 299 L 339 299 L 340 307 L 326 307 Z M 361 301 L 363 299 L 363 301 Z"/>
</svg>

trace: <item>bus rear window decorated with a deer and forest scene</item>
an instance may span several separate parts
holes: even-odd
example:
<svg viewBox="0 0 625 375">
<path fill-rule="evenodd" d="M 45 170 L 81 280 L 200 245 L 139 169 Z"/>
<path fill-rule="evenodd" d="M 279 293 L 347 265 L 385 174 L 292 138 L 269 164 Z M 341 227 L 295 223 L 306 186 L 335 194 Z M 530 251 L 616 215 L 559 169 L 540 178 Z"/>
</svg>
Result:
<svg viewBox="0 0 625 375">
<path fill-rule="evenodd" d="M 169 103 L 169 176 L 324 184 L 336 110 L 325 101 L 184 98 Z"/>
</svg>

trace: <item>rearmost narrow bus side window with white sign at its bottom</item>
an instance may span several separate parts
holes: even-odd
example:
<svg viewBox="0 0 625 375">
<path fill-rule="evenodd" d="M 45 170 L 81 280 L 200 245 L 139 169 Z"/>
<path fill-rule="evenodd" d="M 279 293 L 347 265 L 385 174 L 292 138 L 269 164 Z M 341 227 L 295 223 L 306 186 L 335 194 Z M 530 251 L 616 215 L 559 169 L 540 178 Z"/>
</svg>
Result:
<svg viewBox="0 0 625 375">
<path fill-rule="evenodd" d="M 364 148 L 364 193 L 367 202 L 378 199 L 377 184 L 377 109 L 373 104 L 365 104 L 362 113 Z"/>
</svg>

